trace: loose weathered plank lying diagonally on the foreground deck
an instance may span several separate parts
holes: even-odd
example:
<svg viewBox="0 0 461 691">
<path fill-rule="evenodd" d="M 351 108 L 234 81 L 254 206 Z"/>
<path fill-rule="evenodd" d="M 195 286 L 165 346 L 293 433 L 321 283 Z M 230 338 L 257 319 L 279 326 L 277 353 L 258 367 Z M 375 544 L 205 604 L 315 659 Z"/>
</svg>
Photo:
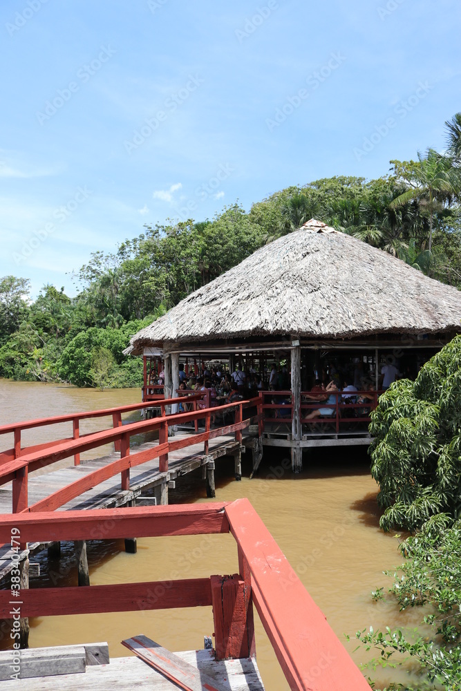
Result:
<svg viewBox="0 0 461 691">
<path fill-rule="evenodd" d="M 197 668 L 151 641 L 147 636 L 140 634 L 140 636 L 127 638 L 122 641 L 122 645 L 184 691 L 227 691 L 225 686 L 207 678 L 203 673 L 200 674 Z"/>
</svg>

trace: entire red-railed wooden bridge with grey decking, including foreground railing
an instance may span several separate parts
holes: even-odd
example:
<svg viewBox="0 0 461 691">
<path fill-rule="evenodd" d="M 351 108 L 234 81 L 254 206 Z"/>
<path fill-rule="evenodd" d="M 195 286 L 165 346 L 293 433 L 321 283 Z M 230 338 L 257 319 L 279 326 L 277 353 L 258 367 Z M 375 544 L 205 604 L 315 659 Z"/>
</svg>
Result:
<svg viewBox="0 0 461 691">
<path fill-rule="evenodd" d="M 198 467 L 203 468 L 207 494 L 214 497 L 216 462 L 223 455 L 234 456 L 235 476 L 240 479 L 245 445 L 252 445 L 256 467 L 262 454 L 263 397 L 219 410 L 200 409 L 202 398 L 203 394 L 196 394 L 153 401 L 150 405 L 160 408 L 160 417 L 141 422 L 122 424 L 122 414 L 148 408 L 147 403 L 0 428 L 0 434 L 10 434 L 14 440 L 12 448 L 0 454 L 0 573 L 11 576 L 10 584 L 3 578 L 0 617 L 12 618 L 12 634 L 17 636 L 15 650 L 0 654 L 0 678 L 8 667 L 19 670 L 19 677 L 2 682 L 6 691 L 16 688 L 12 684 L 20 677 L 26 690 L 113 691 L 135 685 L 160 690 L 179 684 L 192 691 L 263 691 L 255 659 L 253 605 L 290 688 L 369 688 L 250 502 L 136 506 L 145 502 L 167 504 L 171 483 Z M 192 409 L 171 414 L 170 406 L 178 404 Z M 223 415 L 223 424 L 213 428 L 211 419 L 216 413 Z M 104 416 L 112 418 L 110 428 L 80 435 L 82 420 Z M 229 416 L 232 419 L 227 420 Z M 199 421 L 203 421 L 203 431 Z M 70 423 L 72 437 L 21 446 L 23 430 Z M 140 433 L 155 433 L 156 438 L 131 446 L 131 439 Z M 81 462 L 82 453 L 109 443 L 115 446 L 113 453 Z M 55 471 L 48 468 L 66 459 L 73 459 L 73 464 Z M 44 468 L 49 471 L 37 473 Z M 154 496 L 145 495 L 147 491 Z M 88 539 L 124 538 L 126 551 L 135 552 L 133 536 L 229 532 L 238 547 L 238 567 L 233 575 L 104 586 L 89 583 Z M 56 555 L 62 540 L 74 543 L 79 587 L 28 589 L 29 556 L 44 547 L 50 556 Z M 28 646 L 30 616 L 210 605 L 215 636 L 212 652 L 159 654 L 157 644 L 146 636 L 125 641 L 140 659 L 111 663 L 105 644 L 96 652 L 91 645 L 77 646 L 78 650 L 64 646 L 22 652 Z M 9 664 L 8 655 L 17 663 Z M 147 670 L 145 663 L 152 669 Z M 84 675 L 78 673 L 85 670 Z M 176 685 L 165 685 L 166 679 Z"/>
</svg>

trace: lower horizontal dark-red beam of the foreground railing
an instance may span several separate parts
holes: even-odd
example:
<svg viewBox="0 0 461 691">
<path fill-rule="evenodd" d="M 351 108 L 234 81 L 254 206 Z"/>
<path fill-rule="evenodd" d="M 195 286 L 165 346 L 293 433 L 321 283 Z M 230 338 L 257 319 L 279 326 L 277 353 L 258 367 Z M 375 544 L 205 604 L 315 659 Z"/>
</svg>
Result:
<svg viewBox="0 0 461 691">
<path fill-rule="evenodd" d="M 10 616 L 11 593 L 0 591 L 0 617 Z M 209 578 L 115 583 L 88 587 L 34 588 L 21 591 L 24 616 L 64 616 L 98 612 L 139 612 L 175 607 L 209 607 Z"/>
</svg>

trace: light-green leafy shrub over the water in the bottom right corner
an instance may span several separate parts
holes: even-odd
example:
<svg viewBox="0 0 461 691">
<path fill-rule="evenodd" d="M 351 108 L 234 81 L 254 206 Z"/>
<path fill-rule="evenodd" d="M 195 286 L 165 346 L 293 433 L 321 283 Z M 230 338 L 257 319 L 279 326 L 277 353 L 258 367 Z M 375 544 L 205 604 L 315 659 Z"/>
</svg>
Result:
<svg viewBox="0 0 461 691">
<path fill-rule="evenodd" d="M 392 684 L 384 691 L 458 691 L 461 688 L 461 520 L 431 518 L 416 536 L 399 546 L 405 562 L 393 577 L 389 594 L 400 611 L 422 609 L 422 632 L 399 627 L 384 632 L 359 631 L 366 650 L 379 651 L 367 666 L 394 668 L 411 662 L 417 683 Z M 373 599 L 382 599 L 377 589 Z M 373 687 L 375 688 L 375 687 Z"/>
</svg>

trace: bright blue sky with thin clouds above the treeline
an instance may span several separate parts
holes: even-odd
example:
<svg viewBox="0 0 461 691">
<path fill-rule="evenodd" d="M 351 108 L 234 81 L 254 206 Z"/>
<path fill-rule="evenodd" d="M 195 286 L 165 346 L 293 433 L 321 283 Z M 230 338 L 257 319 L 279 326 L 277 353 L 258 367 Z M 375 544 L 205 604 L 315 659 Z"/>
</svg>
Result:
<svg viewBox="0 0 461 691">
<path fill-rule="evenodd" d="M 3 0 L 0 277 L 167 218 L 381 176 L 461 110 L 455 0 Z"/>
</svg>

